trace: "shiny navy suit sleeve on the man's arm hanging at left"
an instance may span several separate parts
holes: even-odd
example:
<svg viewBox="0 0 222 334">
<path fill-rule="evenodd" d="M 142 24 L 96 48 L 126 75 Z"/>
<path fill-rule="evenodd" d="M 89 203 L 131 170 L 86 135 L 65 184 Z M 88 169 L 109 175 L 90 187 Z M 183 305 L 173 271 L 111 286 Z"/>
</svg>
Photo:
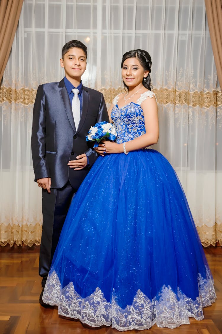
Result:
<svg viewBox="0 0 222 334">
<path fill-rule="evenodd" d="M 43 85 L 38 87 L 33 108 L 31 148 L 35 181 L 44 177 L 50 177 L 47 160 L 45 158 L 46 109 Z"/>
</svg>

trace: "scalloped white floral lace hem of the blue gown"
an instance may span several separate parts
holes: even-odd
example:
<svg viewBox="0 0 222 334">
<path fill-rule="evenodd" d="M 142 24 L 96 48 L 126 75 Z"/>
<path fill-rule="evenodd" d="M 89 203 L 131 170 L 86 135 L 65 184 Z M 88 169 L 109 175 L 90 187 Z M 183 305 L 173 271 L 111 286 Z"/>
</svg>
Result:
<svg viewBox="0 0 222 334">
<path fill-rule="evenodd" d="M 123 332 L 149 329 L 156 323 L 158 327 L 175 328 L 181 324 L 189 324 L 189 317 L 202 320 L 203 307 L 215 301 L 214 282 L 208 268 L 206 274 L 206 279 L 199 274 L 199 296 L 195 301 L 186 297 L 179 288 L 175 294 L 170 286 L 163 286 L 152 302 L 138 290 L 132 305 L 127 305 L 123 310 L 116 303 L 114 293 L 112 302 L 109 303 L 98 287 L 86 298 L 82 298 L 75 291 L 72 282 L 61 289 L 59 278 L 53 271 L 48 276 L 43 301 L 57 305 L 60 315 L 79 319 L 92 327 L 106 325 Z"/>
</svg>

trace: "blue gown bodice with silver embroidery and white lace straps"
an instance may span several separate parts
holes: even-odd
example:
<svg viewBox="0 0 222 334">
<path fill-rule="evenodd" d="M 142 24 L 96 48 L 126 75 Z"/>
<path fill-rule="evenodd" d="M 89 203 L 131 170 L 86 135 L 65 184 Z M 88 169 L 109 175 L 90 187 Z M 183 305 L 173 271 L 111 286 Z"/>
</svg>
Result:
<svg viewBox="0 0 222 334">
<path fill-rule="evenodd" d="M 145 101 L 147 97 L 153 98 L 155 94 L 151 91 L 147 91 L 140 95 L 136 103 L 130 102 L 122 108 L 119 108 L 117 105 L 119 95 L 114 98 L 111 119 L 117 132 L 117 144 L 127 142 L 145 133 L 141 103 Z"/>
</svg>

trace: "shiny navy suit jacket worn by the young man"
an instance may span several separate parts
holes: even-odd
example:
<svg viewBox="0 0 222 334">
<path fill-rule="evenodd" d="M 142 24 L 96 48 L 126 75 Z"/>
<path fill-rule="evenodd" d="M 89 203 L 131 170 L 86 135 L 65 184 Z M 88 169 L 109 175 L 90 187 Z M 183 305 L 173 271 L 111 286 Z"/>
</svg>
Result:
<svg viewBox="0 0 222 334">
<path fill-rule="evenodd" d="M 68 180 L 78 189 L 90 167 L 97 159 L 87 142 L 91 126 L 109 121 L 103 94 L 83 86 L 83 105 L 78 129 L 75 128 L 72 107 L 64 79 L 40 85 L 37 90 L 32 127 L 32 159 L 35 181 L 51 177 L 52 188 L 62 188 Z M 76 171 L 68 161 L 86 153 L 89 166 Z"/>
</svg>

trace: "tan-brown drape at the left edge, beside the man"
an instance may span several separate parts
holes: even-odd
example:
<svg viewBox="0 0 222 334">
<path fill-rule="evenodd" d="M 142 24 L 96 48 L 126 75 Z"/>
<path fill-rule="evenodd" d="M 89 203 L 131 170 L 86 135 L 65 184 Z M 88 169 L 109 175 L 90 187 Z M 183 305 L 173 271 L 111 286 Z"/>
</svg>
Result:
<svg viewBox="0 0 222 334">
<path fill-rule="evenodd" d="M 0 82 L 14 40 L 23 0 L 0 0 Z"/>
</svg>

